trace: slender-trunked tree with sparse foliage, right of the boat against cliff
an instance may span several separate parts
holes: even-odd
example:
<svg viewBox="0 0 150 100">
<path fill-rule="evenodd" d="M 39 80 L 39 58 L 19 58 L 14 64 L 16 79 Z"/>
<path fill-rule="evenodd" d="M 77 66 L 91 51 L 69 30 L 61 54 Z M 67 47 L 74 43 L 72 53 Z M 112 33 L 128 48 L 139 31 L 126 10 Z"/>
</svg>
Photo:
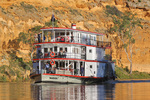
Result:
<svg viewBox="0 0 150 100">
<path fill-rule="evenodd" d="M 130 62 L 130 74 L 132 74 L 133 46 L 135 43 L 134 34 L 138 26 L 142 28 L 141 22 L 131 12 L 120 12 L 116 7 L 106 6 L 106 14 L 112 17 L 114 25 L 108 29 L 110 34 L 117 34 L 122 42 L 122 47 Z"/>
</svg>

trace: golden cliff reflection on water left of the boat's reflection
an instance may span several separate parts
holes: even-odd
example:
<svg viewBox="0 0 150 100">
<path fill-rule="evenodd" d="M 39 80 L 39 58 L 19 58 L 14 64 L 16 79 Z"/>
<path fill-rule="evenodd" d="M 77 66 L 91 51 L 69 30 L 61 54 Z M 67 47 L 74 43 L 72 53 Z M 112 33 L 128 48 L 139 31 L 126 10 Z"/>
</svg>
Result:
<svg viewBox="0 0 150 100">
<path fill-rule="evenodd" d="M 31 100 L 30 83 L 0 83 L 0 100 Z"/>
</svg>

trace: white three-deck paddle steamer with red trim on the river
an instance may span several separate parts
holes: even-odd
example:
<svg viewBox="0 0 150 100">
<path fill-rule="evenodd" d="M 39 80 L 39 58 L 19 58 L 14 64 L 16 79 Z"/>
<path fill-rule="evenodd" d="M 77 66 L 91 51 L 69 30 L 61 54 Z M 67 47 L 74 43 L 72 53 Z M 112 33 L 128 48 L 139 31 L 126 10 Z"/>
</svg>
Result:
<svg viewBox="0 0 150 100">
<path fill-rule="evenodd" d="M 115 79 L 111 42 L 103 40 L 104 34 L 78 30 L 75 24 L 41 31 L 39 42 L 33 44 L 30 77 L 35 82 L 90 84 Z"/>
</svg>

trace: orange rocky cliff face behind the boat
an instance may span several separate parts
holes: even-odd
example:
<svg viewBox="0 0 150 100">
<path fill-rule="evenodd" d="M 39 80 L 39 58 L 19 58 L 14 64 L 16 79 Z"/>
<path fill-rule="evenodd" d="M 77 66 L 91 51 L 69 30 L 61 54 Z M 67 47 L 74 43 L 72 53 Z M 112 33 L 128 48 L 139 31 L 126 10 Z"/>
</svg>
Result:
<svg viewBox="0 0 150 100">
<path fill-rule="evenodd" d="M 116 6 L 120 11 L 137 13 L 142 18 L 143 29 L 135 31 L 136 43 L 133 55 L 133 70 L 150 72 L 150 1 L 149 0 L 2 0 L 0 1 L 0 66 L 9 65 L 7 52 L 16 50 L 24 60 L 30 60 L 29 45 L 17 44 L 20 32 L 44 25 L 49 21 L 52 11 L 60 27 L 70 27 L 106 33 L 112 25 L 104 9 L 106 5 Z M 119 44 L 119 41 L 115 41 Z M 112 45 L 116 64 L 129 66 L 126 54 L 121 48 Z"/>
</svg>

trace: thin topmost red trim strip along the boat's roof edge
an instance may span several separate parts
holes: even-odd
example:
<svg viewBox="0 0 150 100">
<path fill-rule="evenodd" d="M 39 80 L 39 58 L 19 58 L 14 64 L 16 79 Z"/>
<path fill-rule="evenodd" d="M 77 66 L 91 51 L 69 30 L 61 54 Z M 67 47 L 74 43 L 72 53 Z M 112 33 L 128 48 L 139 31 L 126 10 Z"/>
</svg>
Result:
<svg viewBox="0 0 150 100">
<path fill-rule="evenodd" d="M 63 27 L 47 27 L 47 28 L 41 28 L 41 30 L 44 29 L 69 29 L 69 30 L 74 30 L 74 31 L 82 31 L 82 32 L 88 32 L 88 33 L 94 33 L 94 34 L 99 34 L 99 35 L 104 35 L 102 33 L 97 33 L 97 32 L 90 32 L 90 31 L 85 31 L 85 30 L 78 30 L 78 29 L 72 29 L 72 28 L 63 28 Z"/>
</svg>

